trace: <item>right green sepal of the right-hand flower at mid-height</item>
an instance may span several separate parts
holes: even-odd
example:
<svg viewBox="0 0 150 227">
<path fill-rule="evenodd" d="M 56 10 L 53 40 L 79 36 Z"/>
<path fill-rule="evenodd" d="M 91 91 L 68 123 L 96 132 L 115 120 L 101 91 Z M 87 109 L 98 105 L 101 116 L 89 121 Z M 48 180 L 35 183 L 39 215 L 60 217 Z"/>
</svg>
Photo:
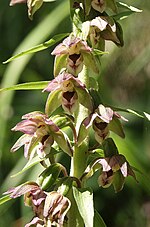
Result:
<svg viewBox="0 0 150 227">
<path fill-rule="evenodd" d="M 110 131 L 116 133 L 118 136 L 125 138 L 122 124 L 117 117 L 113 117 L 113 120 L 109 122 L 108 128 Z"/>
</svg>

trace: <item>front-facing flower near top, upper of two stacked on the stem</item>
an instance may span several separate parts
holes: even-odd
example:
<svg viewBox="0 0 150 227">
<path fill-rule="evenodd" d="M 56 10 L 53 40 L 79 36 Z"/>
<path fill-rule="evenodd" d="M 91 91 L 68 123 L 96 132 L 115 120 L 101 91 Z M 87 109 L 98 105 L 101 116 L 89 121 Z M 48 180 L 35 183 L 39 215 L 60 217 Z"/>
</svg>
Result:
<svg viewBox="0 0 150 227">
<path fill-rule="evenodd" d="M 67 68 L 68 72 L 75 76 L 81 72 L 83 64 L 91 67 L 97 73 L 96 62 L 91 52 L 92 49 L 86 41 L 70 35 L 52 52 L 52 55 L 56 55 L 54 75 L 59 73 L 60 65 L 61 68 Z"/>
</svg>

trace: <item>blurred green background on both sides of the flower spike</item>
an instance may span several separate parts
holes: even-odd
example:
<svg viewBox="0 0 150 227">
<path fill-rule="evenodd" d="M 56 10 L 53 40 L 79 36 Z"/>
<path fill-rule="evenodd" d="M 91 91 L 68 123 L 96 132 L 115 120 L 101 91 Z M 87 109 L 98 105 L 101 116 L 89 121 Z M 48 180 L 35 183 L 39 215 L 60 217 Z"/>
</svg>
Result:
<svg viewBox="0 0 150 227">
<path fill-rule="evenodd" d="M 118 48 L 107 42 L 110 53 L 102 58 L 101 75 L 98 78 L 100 92 L 105 103 L 117 107 L 150 112 L 150 4 L 145 1 L 125 1 L 141 8 L 142 13 L 122 20 L 125 45 Z M 27 17 L 25 5 L 9 7 L 8 0 L 0 7 L 0 87 L 29 81 L 53 78 L 53 48 L 27 55 L 8 65 L 7 60 L 14 51 L 20 52 L 48 40 L 57 33 L 71 31 L 68 1 L 44 4 L 35 14 L 34 20 Z M 39 166 L 25 174 L 10 178 L 21 170 L 26 160 L 23 150 L 11 154 L 10 148 L 20 136 L 11 128 L 25 113 L 41 110 L 47 94 L 41 91 L 16 91 L 0 94 L 0 194 L 11 186 L 27 179 L 34 180 L 40 172 Z M 150 123 L 139 117 L 124 114 L 129 122 L 124 124 L 126 138 L 114 137 L 120 153 L 127 157 L 137 173 L 139 183 L 127 179 L 124 189 L 118 194 L 112 187 L 98 187 L 96 176 L 90 184 L 94 188 L 96 208 L 108 227 L 150 226 Z M 0 226 L 22 227 L 32 214 L 24 207 L 22 199 L 10 201 L 0 207 Z"/>
</svg>

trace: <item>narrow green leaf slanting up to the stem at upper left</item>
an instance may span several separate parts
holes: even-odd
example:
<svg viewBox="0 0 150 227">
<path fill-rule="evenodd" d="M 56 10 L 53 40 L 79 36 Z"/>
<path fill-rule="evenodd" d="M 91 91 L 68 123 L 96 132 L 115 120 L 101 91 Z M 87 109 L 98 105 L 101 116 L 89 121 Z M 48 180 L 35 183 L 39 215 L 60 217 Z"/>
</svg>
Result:
<svg viewBox="0 0 150 227">
<path fill-rule="evenodd" d="M 45 50 L 48 47 L 53 46 L 55 43 L 59 42 L 61 39 L 65 38 L 68 35 L 69 35 L 69 33 L 63 33 L 63 34 L 55 35 L 50 40 L 48 40 L 48 41 L 46 41 L 46 42 L 44 42 L 42 44 L 39 44 L 39 45 L 37 45 L 35 47 L 32 47 L 32 48 L 30 48 L 30 49 L 28 49 L 26 51 L 23 51 L 23 52 L 15 55 L 15 56 L 9 58 L 7 61 L 4 61 L 3 64 L 6 64 L 6 63 L 8 63 L 8 62 L 10 62 L 10 61 L 12 61 L 12 60 L 14 60 L 16 58 L 22 57 L 22 56 L 24 56 L 26 54 L 31 54 L 31 53 L 39 52 L 41 50 Z"/>
</svg>

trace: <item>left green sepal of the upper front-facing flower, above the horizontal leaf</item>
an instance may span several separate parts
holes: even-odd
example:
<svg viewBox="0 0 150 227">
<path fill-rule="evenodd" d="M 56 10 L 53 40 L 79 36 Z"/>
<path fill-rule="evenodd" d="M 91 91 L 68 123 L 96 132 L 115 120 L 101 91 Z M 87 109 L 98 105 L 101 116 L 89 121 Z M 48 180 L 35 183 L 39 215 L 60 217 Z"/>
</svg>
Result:
<svg viewBox="0 0 150 227">
<path fill-rule="evenodd" d="M 67 65 L 67 54 L 61 54 L 55 56 L 54 62 L 54 77 L 58 76 L 63 68 Z"/>
</svg>

